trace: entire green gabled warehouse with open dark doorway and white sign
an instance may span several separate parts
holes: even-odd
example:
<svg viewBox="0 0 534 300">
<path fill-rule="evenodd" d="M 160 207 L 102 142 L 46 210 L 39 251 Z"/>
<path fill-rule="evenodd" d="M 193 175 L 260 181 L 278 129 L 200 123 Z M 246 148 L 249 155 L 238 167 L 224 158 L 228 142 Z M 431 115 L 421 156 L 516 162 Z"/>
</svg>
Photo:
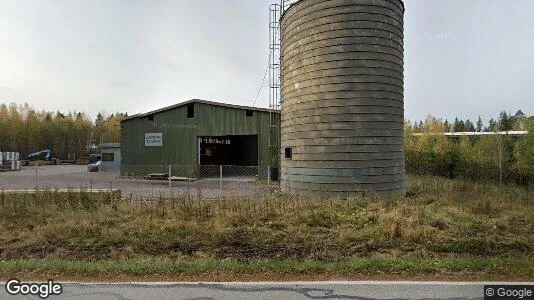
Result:
<svg viewBox="0 0 534 300">
<path fill-rule="evenodd" d="M 143 166 L 267 166 L 279 111 L 193 99 L 121 122 L 121 172 Z M 273 147 L 271 147 L 272 145 Z M 274 151 L 273 151 L 274 150 Z"/>
</svg>

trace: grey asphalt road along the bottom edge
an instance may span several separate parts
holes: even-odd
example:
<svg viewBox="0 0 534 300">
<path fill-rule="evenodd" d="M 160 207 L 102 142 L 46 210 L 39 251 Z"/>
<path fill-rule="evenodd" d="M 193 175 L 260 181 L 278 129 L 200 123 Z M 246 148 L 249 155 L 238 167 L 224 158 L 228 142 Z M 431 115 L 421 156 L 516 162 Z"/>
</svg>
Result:
<svg viewBox="0 0 534 300">
<path fill-rule="evenodd" d="M 483 287 L 445 282 L 66 283 L 62 295 L 48 299 L 484 299 Z M 2 283 L 0 299 L 38 297 L 10 296 Z"/>
</svg>

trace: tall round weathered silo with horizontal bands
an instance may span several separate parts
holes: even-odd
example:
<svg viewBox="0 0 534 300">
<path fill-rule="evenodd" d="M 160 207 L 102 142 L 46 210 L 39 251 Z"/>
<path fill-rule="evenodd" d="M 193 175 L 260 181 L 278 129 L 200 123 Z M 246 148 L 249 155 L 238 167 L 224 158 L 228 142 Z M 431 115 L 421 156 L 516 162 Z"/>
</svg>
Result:
<svg viewBox="0 0 534 300">
<path fill-rule="evenodd" d="M 281 187 L 403 194 L 404 4 L 301 0 L 281 19 Z"/>
</svg>

